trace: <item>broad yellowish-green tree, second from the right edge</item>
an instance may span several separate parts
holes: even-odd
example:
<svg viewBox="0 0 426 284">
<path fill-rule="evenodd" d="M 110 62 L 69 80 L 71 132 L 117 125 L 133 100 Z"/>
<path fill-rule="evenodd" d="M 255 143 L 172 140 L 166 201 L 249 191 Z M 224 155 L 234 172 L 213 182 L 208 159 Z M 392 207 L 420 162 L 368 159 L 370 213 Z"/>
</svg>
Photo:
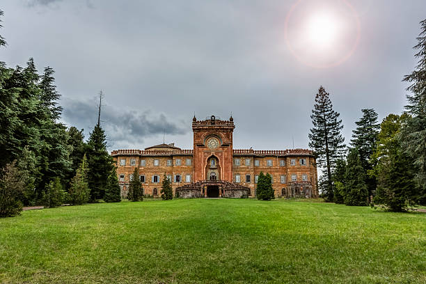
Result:
<svg viewBox="0 0 426 284">
<path fill-rule="evenodd" d="M 419 187 L 414 182 L 416 167 L 401 143 L 401 129 L 407 118 L 407 114 L 390 114 L 383 120 L 372 156 L 376 166 L 369 172 L 377 178 L 374 203 L 384 204 L 395 212 L 407 210 L 419 195 Z"/>
</svg>

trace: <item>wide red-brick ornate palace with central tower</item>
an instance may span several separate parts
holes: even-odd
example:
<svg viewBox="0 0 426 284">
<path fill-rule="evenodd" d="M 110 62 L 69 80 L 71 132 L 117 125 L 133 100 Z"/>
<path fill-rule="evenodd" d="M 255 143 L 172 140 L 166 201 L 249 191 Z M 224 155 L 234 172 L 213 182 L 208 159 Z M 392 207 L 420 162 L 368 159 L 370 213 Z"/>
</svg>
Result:
<svg viewBox="0 0 426 284">
<path fill-rule="evenodd" d="M 173 193 L 191 197 L 255 197 L 260 172 L 269 173 L 276 197 L 317 197 L 317 167 L 305 149 L 233 149 L 233 118 L 192 120 L 194 150 L 160 144 L 145 150 L 114 150 L 117 175 L 126 196 L 134 168 L 144 194 L 159 196 L 164 177 Z"/>
</svg>

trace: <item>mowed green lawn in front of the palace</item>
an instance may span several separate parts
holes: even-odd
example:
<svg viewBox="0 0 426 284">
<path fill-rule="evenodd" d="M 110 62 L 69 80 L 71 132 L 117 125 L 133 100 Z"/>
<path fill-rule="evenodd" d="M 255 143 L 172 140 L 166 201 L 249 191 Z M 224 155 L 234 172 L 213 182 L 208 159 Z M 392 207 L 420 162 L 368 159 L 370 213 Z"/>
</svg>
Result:
<svg viewBox="0 0 426 284">
<path fill-rule="evenodd" d="M 426 214 L 248 199 L 0 219 L 0 283 L 426 283 Z"/>
</svg>

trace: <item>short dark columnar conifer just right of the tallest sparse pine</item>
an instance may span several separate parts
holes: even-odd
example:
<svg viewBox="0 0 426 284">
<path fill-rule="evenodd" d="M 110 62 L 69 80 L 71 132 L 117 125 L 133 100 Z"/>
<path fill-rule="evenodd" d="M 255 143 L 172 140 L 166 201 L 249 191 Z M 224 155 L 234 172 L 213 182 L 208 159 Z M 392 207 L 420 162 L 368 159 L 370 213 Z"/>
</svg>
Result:
<svg viewBox="0 0 426 284">
<path fill-rule="evenodd" d="M 345 205 L 364 206 L 368 204 L 368 189 L 365 171 L 357 148 L 349 150 L 345 173 Z"/>
</svg>

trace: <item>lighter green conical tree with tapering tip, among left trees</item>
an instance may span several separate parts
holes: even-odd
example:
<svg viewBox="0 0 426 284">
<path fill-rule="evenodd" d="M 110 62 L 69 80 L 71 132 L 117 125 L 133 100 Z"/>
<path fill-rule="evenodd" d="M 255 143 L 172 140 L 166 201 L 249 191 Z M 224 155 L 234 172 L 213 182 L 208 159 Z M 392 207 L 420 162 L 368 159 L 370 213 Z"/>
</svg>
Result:
<svg viewBox="0 0 426 284">
<path fill-rule="evenodd" d="M 83 161 L 79 168 L 77 169 L 77 173 L 72 178 L 70 189 L 68 191 L 68 195 L 70 196 L 70 202 L 73 205 L 81 205 L 83 203 L 87 203 L 90 197 L 90 189 L 88 187 L 87 182 L 87 173 L 88 173 L 88 162 L 86 159 L 86 155 L 83 157 Z"/>
</svg>

